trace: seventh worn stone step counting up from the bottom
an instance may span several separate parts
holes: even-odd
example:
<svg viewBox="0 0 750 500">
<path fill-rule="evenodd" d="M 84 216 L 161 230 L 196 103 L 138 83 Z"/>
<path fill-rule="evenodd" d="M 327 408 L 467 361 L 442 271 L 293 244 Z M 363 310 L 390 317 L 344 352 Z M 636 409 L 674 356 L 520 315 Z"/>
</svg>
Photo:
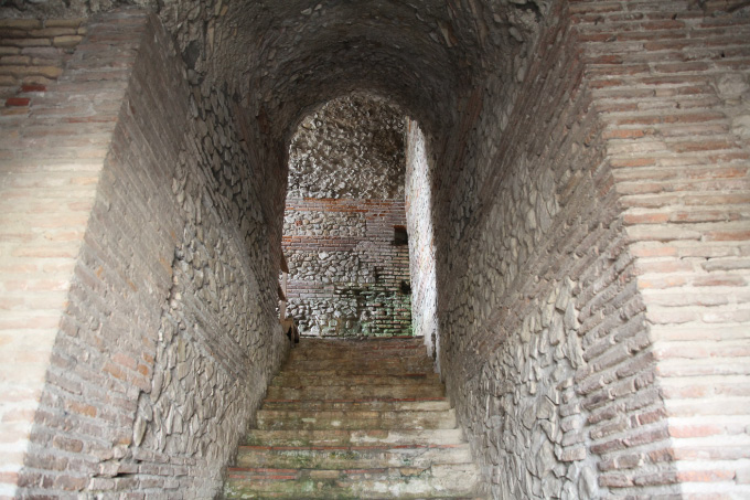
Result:
<svg viewBox="0 0 750 500">
<path fill-rule="evenodd" d="M 300 385 L 439 385 L 440 377 L 437 373 L 404 373 L 404 374 L 358 374 L 350 373 L 340 376 L 326 374 L 309 374 L 294 371 L 282 371 L 274 377 L 271 385 L 300 386 Z"/>
</svg>

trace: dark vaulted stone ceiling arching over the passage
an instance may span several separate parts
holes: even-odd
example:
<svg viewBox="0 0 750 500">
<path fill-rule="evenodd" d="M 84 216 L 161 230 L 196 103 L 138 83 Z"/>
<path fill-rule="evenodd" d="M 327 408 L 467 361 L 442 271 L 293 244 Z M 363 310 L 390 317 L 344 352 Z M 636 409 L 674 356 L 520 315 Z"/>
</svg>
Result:
<svg viewBox="0 0 750 500">
<path fill-rule="evenodd" d="M 2 15 L 157 12 L 193 84 L 225 88 L 289 137 L 315 106 L 354 89 L 398 103 L 428 132 L 488 76 L 522 75 L 554 0 L 38 0 Z"/>
</svg>

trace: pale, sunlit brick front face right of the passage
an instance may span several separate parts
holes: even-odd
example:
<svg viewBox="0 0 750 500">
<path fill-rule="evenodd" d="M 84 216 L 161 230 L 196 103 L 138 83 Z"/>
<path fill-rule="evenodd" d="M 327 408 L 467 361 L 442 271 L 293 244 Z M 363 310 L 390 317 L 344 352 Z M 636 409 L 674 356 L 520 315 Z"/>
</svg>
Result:
<svg viewBox="0 0 750 500">
<path fill-rule="evenodd" d="M 638 482 L 643 454 L 628 453 L 630 467 L 602 477 L 617 491 L 678 482 L 684 498 L 750 494 L 750 435 L 741 424 L 750 415 L 750 19 L 742 7 L 572 7 L 657 362 L 660 432 L 674 460 L 671 474 Z M 619 436 L 606 445 L 628 448 Z"/>
</svg>

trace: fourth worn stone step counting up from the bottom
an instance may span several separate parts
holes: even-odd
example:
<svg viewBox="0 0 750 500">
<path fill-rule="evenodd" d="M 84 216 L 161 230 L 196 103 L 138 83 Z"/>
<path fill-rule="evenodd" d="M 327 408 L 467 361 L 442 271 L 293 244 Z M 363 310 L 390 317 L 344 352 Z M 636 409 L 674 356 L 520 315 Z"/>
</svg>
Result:
<svg viewBox="0 0 750 500">
<path fill-rule="evenodd" d="M 342 412 L 342 411 L 277 411 L 260 409 L 257 427 L 260 429 L 420 429 L 454 428 L 456 412 Z"/>
</svg>

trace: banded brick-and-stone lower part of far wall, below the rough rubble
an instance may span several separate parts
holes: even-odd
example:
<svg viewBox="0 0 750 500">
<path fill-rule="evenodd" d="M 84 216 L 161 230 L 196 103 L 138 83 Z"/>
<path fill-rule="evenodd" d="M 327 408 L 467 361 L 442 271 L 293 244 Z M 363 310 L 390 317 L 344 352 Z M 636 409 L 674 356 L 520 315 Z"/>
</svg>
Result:
<svg viewBox="0 0 750 500">
<path fill-rule="evenodd" d="M 411 334 L 401 200 L 287 199 L 289 315 L 302 333 Z"/>
</svg>

